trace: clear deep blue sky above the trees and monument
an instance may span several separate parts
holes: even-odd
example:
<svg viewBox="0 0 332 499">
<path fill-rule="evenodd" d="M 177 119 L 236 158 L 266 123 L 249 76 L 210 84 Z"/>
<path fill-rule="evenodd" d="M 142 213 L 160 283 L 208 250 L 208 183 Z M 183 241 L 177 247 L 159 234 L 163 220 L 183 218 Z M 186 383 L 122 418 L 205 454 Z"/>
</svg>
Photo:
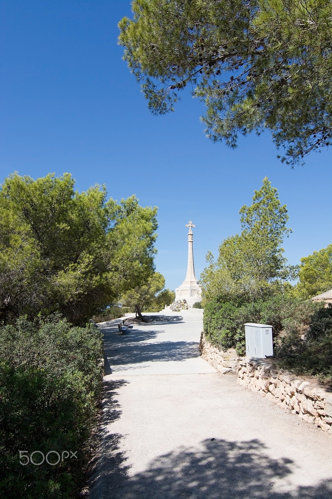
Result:
<svg viewBox="0 0 332 499">
<path fill-rule="evenodd" d="M 174 289 L 185 277 L 192 220 L 197 277 L 205 254 L 240 231 L 239 209 L 267 175 L 287 204 L 292 264 L 332 242 L 332 152 L 282 165 L 269 133 L 235 151 L 205 138 L 204 106 L 182 93 L 152 116 L 117 45 L 127 0 L 0 1 L 0 179 L 70 172 L 77 189 L 105 183 L 159 207 L 157 270 Z M 189 215 L 190 214 L 190 215 Z"/>
</svg>

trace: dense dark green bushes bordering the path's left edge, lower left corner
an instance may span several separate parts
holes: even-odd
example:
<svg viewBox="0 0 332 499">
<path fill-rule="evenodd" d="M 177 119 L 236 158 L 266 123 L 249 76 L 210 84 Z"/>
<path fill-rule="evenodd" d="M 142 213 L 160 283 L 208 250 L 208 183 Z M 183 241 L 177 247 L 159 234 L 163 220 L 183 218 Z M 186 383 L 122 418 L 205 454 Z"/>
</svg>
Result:
<svg viewBox="0 0 332 499">
<path fill-rule="evenodd" d="M 90 458 L 102 358 L 101 333 L 92 324 L 71 327 L 54 314 L 0 327 L 1 497 L 77 496 Z M 53 450 L 60 456 L 62 451 L 77 451 L 77 460 L 22 466 L 20 450 L 28 455 L 38 450 L 45 456 Z"/>
</svg>

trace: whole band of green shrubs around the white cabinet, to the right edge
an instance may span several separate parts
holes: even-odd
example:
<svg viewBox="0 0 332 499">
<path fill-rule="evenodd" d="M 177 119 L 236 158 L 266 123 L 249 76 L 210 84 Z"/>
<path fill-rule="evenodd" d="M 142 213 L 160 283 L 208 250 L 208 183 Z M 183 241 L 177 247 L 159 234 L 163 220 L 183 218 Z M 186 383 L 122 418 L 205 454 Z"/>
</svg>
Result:
<svg viewBox="0 0 332 499">
<path fill-rule="evenodd" d="M 245 355 L 246 322 L 273 326 L 274 359 L 281 369 L 332 378 L 331 305 L 283 295 L 252 302 L 219 295 L 205 305 L 205 336 L 223 350 Z"/>
</svg>

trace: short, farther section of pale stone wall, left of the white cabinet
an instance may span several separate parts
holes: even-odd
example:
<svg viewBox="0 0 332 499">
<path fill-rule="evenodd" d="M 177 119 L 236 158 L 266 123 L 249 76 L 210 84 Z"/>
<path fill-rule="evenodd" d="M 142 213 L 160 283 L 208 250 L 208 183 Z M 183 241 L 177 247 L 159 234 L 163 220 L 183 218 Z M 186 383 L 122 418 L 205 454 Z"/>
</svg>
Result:
<svg viewBox="0 0 332 499">
<path fill-rule="evenodd" d="M 219 350 L 219 348 L 212 346 L 205 339 L 204 333 L 202 332 L 200 335 L 199 349 L 202 358 L 222 374 L 238 372 L 240 358 L 233 348 L 230 348 L 226 352 Z"/>
</svg>

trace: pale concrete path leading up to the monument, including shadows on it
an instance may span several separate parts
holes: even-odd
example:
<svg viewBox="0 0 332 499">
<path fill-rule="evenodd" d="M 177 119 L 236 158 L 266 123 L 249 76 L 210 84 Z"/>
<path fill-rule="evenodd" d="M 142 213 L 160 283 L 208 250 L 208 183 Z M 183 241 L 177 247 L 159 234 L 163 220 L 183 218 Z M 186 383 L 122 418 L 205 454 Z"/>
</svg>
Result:
<svg viewBox="0 0 332 499">
<path fill-rule="evenodd" d="M 181 315 L 124 335 L 100 325 L 104 447 L 91 499 L 332 499 L 331 437 L 216 372 L 199 356 L 201 318 Z"/>
</svg>

